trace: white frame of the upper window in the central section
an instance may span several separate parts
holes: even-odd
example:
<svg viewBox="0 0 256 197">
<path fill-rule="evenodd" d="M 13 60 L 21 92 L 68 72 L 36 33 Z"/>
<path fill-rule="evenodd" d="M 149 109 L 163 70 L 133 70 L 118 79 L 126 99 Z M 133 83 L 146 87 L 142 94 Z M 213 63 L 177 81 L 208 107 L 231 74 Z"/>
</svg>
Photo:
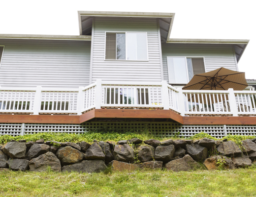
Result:
<svg viewBox="0 0 256 197">
<path fill-rule="evenodd" d="M 106 59 L 106 35 L 107 33 L 125 33 L 126 34 L 126 58 L 127 58 L 127 33 L 146 33 L 146 44 L 147 44 L 147 59 L 146 60 L 130 60 L 130 59 Z M 105 61 L 149 61 L 149 49 L 148 49 L 148 32 L 144 31 L 105 31 L 105 44 L 104 44 L 104 60 Z"/>
</svg>

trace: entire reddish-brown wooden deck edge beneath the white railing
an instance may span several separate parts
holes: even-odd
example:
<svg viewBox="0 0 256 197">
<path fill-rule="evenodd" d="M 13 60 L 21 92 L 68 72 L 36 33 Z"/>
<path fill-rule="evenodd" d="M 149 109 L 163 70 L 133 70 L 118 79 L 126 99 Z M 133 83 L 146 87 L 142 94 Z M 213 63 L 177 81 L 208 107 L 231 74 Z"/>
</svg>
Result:
<svg viewBox="0 0 256 197">
<path fill-rule="evenodd" d="M 65 123 L 81 124 L 101 119 L 159 119 L 172 120 L 183 125 L 255 125 L 256 117 L 249 116 L 181 116 L 171 110 L 157 109 L 93 109 L 82 115 L 9 115 L 0 114 L 0 123 Z"/>
</svg>

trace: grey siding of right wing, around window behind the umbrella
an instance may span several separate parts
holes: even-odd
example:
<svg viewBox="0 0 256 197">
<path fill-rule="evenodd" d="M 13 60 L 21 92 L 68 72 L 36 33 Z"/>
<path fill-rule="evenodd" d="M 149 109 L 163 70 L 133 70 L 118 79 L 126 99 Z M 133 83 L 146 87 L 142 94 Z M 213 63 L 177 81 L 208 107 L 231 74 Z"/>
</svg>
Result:
<svg viewBox="0 0 256 197">
<path fill-rule="evenodd" d="M 162 43 L 163 77 L 168 81 L 167 56 L 203 56 L 206 72 L 220 67 L 237 71 L 232 45 Z"/>
</svg>

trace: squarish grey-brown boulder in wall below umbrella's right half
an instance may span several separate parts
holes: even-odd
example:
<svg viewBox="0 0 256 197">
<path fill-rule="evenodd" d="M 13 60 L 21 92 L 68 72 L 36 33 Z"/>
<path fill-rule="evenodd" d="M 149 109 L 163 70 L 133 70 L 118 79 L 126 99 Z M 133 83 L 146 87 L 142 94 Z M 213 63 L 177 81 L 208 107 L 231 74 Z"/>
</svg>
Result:
<svg viewBox="0 0 256 197">
<path fill-rule="evenodd" d="M 218 152 L 227 157 L 240 156 L 242 151 L 233 141 L 223 142 L 217 147 Z"/>
</svg>

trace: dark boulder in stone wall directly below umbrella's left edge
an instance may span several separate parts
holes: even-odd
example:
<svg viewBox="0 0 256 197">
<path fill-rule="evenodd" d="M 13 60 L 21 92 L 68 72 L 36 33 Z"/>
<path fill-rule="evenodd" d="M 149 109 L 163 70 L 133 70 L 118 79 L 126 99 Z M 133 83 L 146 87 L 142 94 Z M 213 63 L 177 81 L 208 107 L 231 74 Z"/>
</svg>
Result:
<svg viewBox="0 0 256 197">
<path fill-rule="evenodd" d="M 187 153 L 195 160 L 203 162 L 208 155 L 208 150 L 198 144 L 186 145 Z"/>
</svg>

